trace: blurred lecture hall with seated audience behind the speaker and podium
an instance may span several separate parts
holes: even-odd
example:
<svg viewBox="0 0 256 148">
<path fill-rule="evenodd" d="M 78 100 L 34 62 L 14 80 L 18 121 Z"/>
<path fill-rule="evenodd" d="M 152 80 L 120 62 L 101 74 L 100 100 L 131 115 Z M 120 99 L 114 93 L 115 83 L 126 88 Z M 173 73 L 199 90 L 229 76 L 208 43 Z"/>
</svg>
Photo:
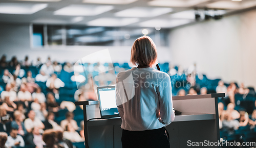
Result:
<svg viewBox="0 0 256 148">
<path fill-rule="evenodd" d="M 7 146 L 20 136 L 16 146 L 42 147 L 42 133 L 54 129 L 63 133 L 59 145 L 84 147 L 74 102 L 97 100 L 97 86 L 115 85 L 117 73 L 133 67 L 131 47 L 142 35 L 156 43 L 173 96 L 225 93 L 221 138 L 256 141 L 255 16 L 255 0 L 1 0 Z"/>
</svg>

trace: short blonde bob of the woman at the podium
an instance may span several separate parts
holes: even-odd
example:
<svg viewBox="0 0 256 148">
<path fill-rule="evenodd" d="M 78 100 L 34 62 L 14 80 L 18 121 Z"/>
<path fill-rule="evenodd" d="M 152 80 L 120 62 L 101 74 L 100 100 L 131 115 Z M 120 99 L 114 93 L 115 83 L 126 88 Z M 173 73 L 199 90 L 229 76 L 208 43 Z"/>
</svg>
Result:
<svg viewBox="0 0 256 148">
<path fill-rule="evenodd" d="M 135 40 L 130 62 L 137 66 L 150 66 L 157 63 L 156 45 L 150 37 L 142 36 Z"/>
</svg>

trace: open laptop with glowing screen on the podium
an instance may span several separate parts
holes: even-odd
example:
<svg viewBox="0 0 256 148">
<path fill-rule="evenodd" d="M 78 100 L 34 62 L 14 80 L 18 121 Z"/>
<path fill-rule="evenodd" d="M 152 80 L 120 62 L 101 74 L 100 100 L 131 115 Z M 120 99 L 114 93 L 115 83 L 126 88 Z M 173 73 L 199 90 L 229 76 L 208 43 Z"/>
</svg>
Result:
<svg viewBox="0 0 256 148">
<path fill-rule="evenodd" d="M 120 117 L 116 106 L 115 86 L 97 87 L 101 118 Z"/>
</svg>

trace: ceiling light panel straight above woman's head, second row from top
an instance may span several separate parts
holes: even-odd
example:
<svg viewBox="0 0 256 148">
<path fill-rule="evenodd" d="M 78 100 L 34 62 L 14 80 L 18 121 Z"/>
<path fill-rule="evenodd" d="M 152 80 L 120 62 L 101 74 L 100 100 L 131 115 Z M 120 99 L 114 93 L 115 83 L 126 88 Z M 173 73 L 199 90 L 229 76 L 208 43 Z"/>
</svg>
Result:
<svg viewBox="0 0 256 148">
<path fill-rule="evenodd" d="M 119 17 L 154 17 L 172 12 L 172 8 L 133 7 L 115 13 Z"/>
</svg>

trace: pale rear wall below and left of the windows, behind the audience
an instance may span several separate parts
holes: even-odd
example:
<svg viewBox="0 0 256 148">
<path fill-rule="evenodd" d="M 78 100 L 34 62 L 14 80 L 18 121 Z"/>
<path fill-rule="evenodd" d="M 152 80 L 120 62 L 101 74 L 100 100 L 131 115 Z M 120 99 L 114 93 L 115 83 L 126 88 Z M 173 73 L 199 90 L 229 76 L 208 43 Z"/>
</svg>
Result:
<svg viewBox="0 0 256 148">
<path fill-rule="evenodd" d="M 30 60 L 40 57 L 45 61 L 50 55 L 52 60 L 76 62 L 84 56 L 108 48 L 112 62 L 129 62 L 131 46 L 67 46 L 51 48 L 31 48 L 28 24 L 0 24 L 0 56 L 7 55 L 10 60 L 16 56 L 23 60 L 26 55 Z M 167 53 L 167 54 L 166 54 Z M 166 47 L 158 47 L 158 61 L 169 62 L 170 53 Z"/>
</svg>

